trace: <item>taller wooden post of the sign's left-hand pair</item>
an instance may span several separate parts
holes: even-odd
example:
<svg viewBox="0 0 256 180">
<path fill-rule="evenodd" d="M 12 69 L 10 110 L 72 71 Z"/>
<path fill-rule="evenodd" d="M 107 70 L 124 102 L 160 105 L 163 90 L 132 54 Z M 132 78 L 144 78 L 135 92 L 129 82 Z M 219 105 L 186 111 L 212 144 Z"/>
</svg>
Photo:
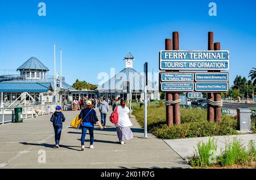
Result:
<svg viewBox="0 0 256 180">
<path fill-rule="evenodd" d="M 179 50 L 179 32 L 172 32 L 172 50 Z M 180 99 L 180 93 L 173 93 L 173 96 L 174 100 Z M 180 125 L 180 103 L 174 104 L 174 122 Z"/>
</svg>

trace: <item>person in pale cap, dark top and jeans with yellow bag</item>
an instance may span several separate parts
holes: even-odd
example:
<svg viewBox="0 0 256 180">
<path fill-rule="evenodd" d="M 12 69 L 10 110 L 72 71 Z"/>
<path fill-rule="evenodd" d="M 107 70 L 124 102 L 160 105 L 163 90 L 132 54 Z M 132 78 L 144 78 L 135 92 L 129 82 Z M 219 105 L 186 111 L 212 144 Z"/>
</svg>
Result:
<svg viewBox="0 0 256 180">
<path fill-rule="evenodd" d="M 90 134 L 90 148 L 94 148 L 93 142 L 94 142 L 94 125 L 97 123 L 98 126 L 100 126 L 101 130 L 103 129 L 101 123 L 98 121 L 96 111 L 93 108 L 92 101 L 87 101 L 87 104 L 85 106 L 85 109 L 81 110 L 81 113 L 79 114 L 79 119 L 81 120 L 81 128 L 82 128 L 82 136 L 81 136 L 81 150 L 84 151 L 84 141 L 85 141 L 85 135 L 87 130 L 89 130 Z"/>
</svg>

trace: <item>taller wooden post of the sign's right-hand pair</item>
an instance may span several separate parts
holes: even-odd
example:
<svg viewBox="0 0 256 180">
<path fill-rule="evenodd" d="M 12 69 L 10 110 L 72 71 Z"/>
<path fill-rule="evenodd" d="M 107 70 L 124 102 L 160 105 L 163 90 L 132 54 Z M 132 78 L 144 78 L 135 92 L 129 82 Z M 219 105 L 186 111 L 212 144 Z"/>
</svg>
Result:
<svg viewBox="0 0 256 180">
<path fill-rule="evenodd" d="M 214 50 L 213 32 L 208 32 L 208 50 Z M 208 71 L 213 72 L 213 71 Z M 208 100 L 214 101 L 213 93 L 208 93 Z M 207 106 L 207 120 L 214 122 L 214 108 L 212 105 Z"/>
</svg>

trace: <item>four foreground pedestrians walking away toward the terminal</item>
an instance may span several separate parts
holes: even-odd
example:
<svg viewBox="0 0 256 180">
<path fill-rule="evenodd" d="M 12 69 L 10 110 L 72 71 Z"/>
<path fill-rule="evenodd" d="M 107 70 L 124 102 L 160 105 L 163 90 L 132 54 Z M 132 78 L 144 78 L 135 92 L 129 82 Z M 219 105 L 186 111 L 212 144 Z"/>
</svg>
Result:
<svg viewBox="0 0 256 180">
<path fill-rule="evenodd" d="M 101 113 L 101 122 L 98 120 L 95 105 L 93 104 L 92 100 L 86 100 L 84 99 L 84 105 L 81 106 L 81 112 L 79 114 L 79 119 L 81 119 L 80 128 L 82 130 L 81 133 L 81 150 L 84 151 L 84 142 L 85 142 L 85 135 L 86 132 L 89 131 L 90 135 L 90 148 L 94 148 L 93 142 L 94 142 L 94 126 L 98 124 L 100 126 L 100 129 L 103 130 L 106 128 L 106 117 L 109 112 L 109 106 L 111 105 L 111 100 L 106 100 L 105 97 L 103 97 L 101 100 L 98 100 L 98 109 Z M 95 103 L 95 102 L 94 102 Z M 116 110 L 118 113 L 118 122 L 114 124 L 115 129 L 117 131 L 117 136 L 119 139 L 120 144 L 125 144 L 125 140 L 130 140 L 133 138 L 133 132 L 131 131 L 131 126 L 133 124 L 130 121 L 130 118 L 128 116 L 128 113 L 130 113 L 130 109 L 126 106 L 126 101 L 121 100 L 121 98 L 116 98 L 114 102 L 112 103 L 112 110 L 113 112 Z M 56 112 L 52 114 L 51 122 L 53 123 L 53 128 L 55 131 L 55 148 L 60 148 L 60 136 L 61 136 L 61 130 L 63 128 L 63 122 L 65 122 L 65 117 L 63 113 L 61 113 L 61 107 L 56 107 Z"/>
</svg>

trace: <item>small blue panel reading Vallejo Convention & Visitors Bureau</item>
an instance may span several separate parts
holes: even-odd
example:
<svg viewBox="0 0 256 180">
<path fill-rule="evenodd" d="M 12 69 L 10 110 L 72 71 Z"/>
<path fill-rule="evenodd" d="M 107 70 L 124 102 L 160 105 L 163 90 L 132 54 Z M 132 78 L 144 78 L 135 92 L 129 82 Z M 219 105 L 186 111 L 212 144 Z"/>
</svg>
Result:
<svg viewBox="0 0 256 180">
<path fill-rule="evenodd" d="M 193 82 L 193 73 L 173 73 L 163 72 L 161 75 L 162 82 Z"/>
</svg>

